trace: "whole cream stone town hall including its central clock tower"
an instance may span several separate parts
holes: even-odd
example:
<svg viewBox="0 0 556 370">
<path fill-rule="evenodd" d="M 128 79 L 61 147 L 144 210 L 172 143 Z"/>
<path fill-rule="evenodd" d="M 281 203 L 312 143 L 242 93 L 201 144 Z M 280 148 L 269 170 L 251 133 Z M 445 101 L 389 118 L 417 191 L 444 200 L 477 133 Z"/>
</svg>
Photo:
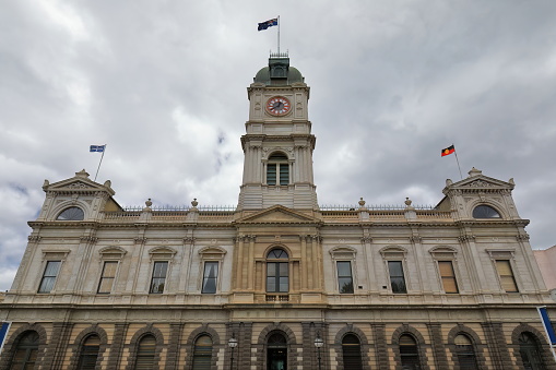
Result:
<svg viewBox="0 0 556 370">
<path fill-rule="evenodd" d="M 248 96 L 235 210 L 45 181 L 0 369 L 556 369 L 511 179 L 473 168 L 430 208 L 319 207 L 304 77 L 274 55 Z"/>
</svg>

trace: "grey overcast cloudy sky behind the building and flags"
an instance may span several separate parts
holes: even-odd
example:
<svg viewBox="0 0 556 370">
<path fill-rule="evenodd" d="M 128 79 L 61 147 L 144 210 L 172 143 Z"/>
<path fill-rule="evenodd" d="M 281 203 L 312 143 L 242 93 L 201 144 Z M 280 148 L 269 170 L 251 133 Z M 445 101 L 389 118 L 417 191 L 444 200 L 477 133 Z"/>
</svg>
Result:
<svg viewBox="0 0 556 370">
<path fill-rule="evenodd" d="M 121 205 L 235 205 L 246 87 L 281 49 L 311 87 L 320 204 L 435 205 L 513 178 L 556 243 L 556 1 L 0 0 L 0 289 L 45 193 L 85 168 Z"/>
</svg>

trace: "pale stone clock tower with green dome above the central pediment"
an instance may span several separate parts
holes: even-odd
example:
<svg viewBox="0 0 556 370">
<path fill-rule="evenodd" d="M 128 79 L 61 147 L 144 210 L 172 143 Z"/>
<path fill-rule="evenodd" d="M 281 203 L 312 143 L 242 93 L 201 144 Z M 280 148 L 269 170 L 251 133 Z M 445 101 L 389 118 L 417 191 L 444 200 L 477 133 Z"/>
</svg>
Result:
<svg viewBox="0 0 556 370">
<path fill-rule="evenodd" d="M 309 86 L 289 65 L 287 53 L 271 53 L 247 88 L 249 120 L 241 136 L 245 154 L 239 210 L 280 204 L 317 210 L 312 175 L 315 135 L 307 105 Z"/>
</svg>

